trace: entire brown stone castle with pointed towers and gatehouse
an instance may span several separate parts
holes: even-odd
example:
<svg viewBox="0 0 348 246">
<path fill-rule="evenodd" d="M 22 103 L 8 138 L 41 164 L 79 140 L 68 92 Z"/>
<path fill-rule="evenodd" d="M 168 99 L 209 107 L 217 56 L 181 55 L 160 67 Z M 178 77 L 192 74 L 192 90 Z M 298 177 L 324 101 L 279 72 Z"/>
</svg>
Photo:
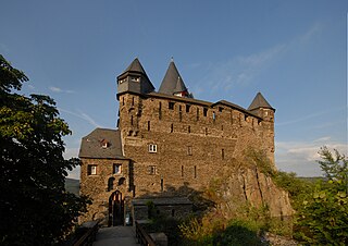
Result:
<svg viewBox="0 0 348 246">
<path fill-rule="evenodd" d="M 158 91 L 138 59 L 116 83 L 117 128 L 82 139 L 80 193 L 94 199 L 84 220 L 145 219 L 149 200 L 157 213 L 183 217 L 192 209 L 189 193 L 237 169 L 248 148 L 274 163 L 275 109 L 260 93 L 248 109 L 198 100 L 173 60 Z"/>
</svg>

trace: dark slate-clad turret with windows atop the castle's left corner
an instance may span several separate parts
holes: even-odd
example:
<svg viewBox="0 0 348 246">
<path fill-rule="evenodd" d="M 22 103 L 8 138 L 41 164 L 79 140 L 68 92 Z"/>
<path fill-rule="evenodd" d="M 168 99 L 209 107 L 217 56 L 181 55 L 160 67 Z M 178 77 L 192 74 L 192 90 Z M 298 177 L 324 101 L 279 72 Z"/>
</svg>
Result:
<svg viewBox="0 0 348 246">
<path fill-rule="evenodd" d="M 117 98 L 123 93 L 148 94 L 154 90 L 138 58 L 117 76 Z"/>
</svg>

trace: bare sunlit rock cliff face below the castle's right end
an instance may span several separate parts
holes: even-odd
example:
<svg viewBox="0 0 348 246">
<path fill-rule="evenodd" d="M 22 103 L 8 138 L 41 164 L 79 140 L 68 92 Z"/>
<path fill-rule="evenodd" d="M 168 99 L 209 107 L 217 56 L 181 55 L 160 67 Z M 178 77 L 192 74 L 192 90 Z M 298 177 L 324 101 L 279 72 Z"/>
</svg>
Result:
<svg viewBox="0 0 348 246">
<path fill-rule="evenodd" d="M 272 179 L 257 168 L 239 168 L 221 177 L 219 209 L 225 217 L 238 206 L 266 207 L 271 217 L 290 217 L 294 210 L 288 193 L 278 188 Z"/>
</svg>

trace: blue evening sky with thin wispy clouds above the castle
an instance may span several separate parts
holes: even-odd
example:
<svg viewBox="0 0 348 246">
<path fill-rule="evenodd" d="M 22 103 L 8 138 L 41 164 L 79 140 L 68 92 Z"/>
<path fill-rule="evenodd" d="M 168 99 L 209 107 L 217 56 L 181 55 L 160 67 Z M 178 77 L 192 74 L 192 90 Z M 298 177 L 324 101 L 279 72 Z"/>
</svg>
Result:
<svg viewBox="0 0 348 246">
<path fill-rule="evenodd" d="M 171 57 L 195 98 L 276 108 L 276 164 L 319 175 L 347 152 L 348 1 L 2 1 L 0 53 L 55 99 L 73 135 L 115 127 L 115 77 L 138 57 L 158 89 Z M 78 177 L 78 169 L 70 174 Z"/>
</svg>

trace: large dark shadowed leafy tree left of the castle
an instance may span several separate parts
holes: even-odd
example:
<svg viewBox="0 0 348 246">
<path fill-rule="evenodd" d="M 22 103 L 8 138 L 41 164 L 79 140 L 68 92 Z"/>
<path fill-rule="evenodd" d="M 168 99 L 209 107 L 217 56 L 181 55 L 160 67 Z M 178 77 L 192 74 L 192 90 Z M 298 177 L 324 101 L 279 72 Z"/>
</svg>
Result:
<svg viewBox="0 0 348 246">
<path fill-rule="evenodd" d="M 28 78 L 0 54 L 0 245 L 51 245 L 70 232 L 88 199 L 64 189 L 62 136 L 71 134 L 48 96 L 18 95 Z"/>
</svg>

